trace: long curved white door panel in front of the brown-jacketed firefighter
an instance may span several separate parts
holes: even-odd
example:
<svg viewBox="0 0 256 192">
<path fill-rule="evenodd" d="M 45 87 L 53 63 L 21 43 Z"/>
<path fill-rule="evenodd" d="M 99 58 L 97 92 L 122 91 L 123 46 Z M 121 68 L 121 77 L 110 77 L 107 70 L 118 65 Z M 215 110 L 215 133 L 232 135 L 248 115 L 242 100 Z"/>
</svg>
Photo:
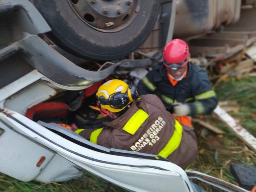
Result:
<svg viewBox="0 0 256 192">
<path fill-rule="evenodd" d="M 66 140 L 18 113 L 10 110 L 6 112 L 12 113 L 11 116 L 23 122 L 24 125 L 21 125 L 14 119 L 6 117 L 16 125 L 15 129 L 51 148 L 79 167 L 123 188 L 132 191 L 186 192 L 188 184 L 191 189 L 186 173 L 175 164 L 100 153 Z M 33 131 L 29 127 L 32 127 Z"/>
</svg>

